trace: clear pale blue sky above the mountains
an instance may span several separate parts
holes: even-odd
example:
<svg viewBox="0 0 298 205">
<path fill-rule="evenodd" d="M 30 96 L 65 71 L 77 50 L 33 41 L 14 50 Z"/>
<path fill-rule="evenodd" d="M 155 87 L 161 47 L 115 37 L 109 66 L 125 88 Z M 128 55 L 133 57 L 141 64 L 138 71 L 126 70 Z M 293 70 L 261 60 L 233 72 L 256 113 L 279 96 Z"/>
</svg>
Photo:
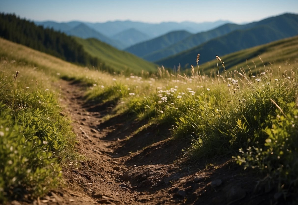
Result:
<svg viewBox="0 0 298 205">
<path fill-rule="evenodd" d="M 1 0 L 0 12 L 36 21 L 252 22 L 298 13 L 297 0 Z"/>
</svg>

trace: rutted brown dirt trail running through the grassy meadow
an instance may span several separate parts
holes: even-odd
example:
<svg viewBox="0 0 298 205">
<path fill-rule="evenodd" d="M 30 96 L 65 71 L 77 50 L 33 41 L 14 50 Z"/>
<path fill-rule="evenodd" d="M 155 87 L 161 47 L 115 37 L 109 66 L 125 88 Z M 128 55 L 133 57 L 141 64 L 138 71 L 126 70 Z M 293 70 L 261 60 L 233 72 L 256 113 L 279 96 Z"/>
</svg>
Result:
<svg viewBox="0 0 298 205">
<path fill-rule="evenodd" d="M 275 189 L 231 160 L 187 161 L 182 149 L 190 140 L 172 139 L 166 126 L 148 126 L 131 114 L 103 121 L 115 105 L 86 102 L 84 86 L 60 83 L 63 114 L 73 120 L 86 161 L 63 168 L 67 186 L 33 204 L 284 204 Z"/>
</svg>

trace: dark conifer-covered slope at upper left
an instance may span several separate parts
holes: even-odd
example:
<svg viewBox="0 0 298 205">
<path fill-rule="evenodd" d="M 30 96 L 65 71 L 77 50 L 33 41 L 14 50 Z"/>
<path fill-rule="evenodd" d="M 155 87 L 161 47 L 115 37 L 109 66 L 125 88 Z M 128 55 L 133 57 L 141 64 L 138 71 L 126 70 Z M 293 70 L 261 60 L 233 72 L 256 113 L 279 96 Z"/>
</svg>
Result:
<svg viewBox="0 0 298 205">
<path fill-rule="evenodd" d="M 36 26 L 33 22 L 12 14 L 0 13 L 0 37 L 69 62 L 114 72 L 104 62 L 89 55 L 82 45 L 65 33 Z"/>
</svg>

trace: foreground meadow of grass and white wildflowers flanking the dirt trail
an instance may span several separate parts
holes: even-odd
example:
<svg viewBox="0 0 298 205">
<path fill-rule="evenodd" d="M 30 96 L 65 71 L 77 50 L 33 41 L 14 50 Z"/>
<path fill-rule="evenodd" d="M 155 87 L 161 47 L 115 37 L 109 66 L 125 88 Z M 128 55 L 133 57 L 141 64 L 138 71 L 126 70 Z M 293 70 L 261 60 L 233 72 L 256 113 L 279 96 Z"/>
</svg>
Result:
<svg viewBox="0 0 298 205">
<path fill-rule="evenodd" d="M 113 115 L 131 113 L 136 120 L 147 119 L 147 126 L 171 129 L 170 140 L 189 142 L 183 163 L 232 159 L 259 177 L 267 176 L 263 179 L 279 197 L 291 199 L 297 193 L 296 59 L 289 62 L 285 56 L 275 64 L 279 56 L 272 56 L 270 65 L 255 59 L 252 77 L 224 67 L 226 57 L 217 57 L 218 69 L 203 72 L 198 55 L 190 75 L 159 68 L 155 75 L 126 77 L 79 67 L 4 39 L 0 48 L 1 201 L 43 195 L 54 188 L 67 162 L 81 160 L 73 152 L 69 119 L 59 114 L 61 79 L 85 86 L 88 101 L 114 102 Z"/>
</svg>

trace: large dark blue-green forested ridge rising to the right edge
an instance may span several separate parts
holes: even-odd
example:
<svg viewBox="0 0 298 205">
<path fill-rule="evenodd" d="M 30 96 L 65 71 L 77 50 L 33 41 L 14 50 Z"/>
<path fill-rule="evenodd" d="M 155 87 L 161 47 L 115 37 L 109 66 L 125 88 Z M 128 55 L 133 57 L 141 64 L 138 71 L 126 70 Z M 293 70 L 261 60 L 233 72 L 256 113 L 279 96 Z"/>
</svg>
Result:
<svg viewBox="0 0 298 205">
<path fill-rule="evenodd" d="M 182 67 L 187 67 L 191 64 L 195 65 L 195 59 L 198 53 L 201 54 L 200 63 L 204 63 L 214 59 L 216 55 L 222 56 L 296 35 L 298 35 L 298 15 L 283 14 L 264 19 L 260 22 L 242 25 L 238 27 L 238 30 L 234 29 L 226 35 L 211 39 L 176 55 L 158 60 L 156 63 L 169 68 L 173 68 L 174 65 L 178 66 L 179 63 Z"/>
</svg>

